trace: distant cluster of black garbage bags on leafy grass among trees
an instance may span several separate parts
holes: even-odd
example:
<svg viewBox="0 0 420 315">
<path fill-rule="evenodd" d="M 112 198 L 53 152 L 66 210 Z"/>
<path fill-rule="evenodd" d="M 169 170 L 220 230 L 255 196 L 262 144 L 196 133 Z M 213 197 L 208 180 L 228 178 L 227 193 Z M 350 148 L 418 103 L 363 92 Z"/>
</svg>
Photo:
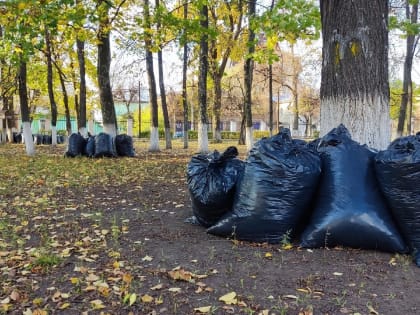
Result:
<svg viewBox="0 0 420 315">
<path fill-rule="evenodd" d="M 135 156 L 133 138 L 126 134 L 112 137 L 105 132 L 84 138 L 79 133 L 73 133 L 69 137 L 65 156 L 87 156 L 92 158 L 133 157 Z"/>
</svg>

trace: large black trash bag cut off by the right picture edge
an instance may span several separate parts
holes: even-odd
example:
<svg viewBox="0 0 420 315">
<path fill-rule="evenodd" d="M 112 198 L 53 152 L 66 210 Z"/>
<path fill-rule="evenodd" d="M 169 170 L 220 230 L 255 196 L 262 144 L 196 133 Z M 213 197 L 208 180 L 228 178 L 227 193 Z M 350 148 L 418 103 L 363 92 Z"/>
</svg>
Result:
<svg viewBox="0 0 420 315">
<path fill-rule="evenodd" d="M 420 267 L 420 135 L 393 141 L 375 157 L 376 176 Z"/>
</svg>

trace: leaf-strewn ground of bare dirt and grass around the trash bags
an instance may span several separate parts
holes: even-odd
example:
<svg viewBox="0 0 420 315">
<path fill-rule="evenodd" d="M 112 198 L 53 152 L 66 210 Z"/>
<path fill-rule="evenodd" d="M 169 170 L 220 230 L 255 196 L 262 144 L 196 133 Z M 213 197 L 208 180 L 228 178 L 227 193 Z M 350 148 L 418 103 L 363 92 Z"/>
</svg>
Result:
<svg viewBox="0 0 420 315">
<path fill-rule="evenodd" d="M 238 242 L 185 223 L 196 144 L 173 144 L 115 159 L 1 145 L 0 314 L 420 313 L 409 256 Z"/>
</svg>

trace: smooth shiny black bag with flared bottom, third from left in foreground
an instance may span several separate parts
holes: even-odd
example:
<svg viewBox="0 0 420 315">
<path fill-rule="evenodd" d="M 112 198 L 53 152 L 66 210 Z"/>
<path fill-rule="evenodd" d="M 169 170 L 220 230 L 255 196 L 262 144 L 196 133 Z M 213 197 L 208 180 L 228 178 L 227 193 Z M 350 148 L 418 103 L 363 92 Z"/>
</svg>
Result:
<svg viewBox="0 0 420 315">
<path fill-rule="evenodd" d="M 405 252 L 406 246 L 379 189 L 376 153 L 343 126 L 325 135 L 318 151 L 322 175 L 302 247 L 346 246 Z"/>
</svg>

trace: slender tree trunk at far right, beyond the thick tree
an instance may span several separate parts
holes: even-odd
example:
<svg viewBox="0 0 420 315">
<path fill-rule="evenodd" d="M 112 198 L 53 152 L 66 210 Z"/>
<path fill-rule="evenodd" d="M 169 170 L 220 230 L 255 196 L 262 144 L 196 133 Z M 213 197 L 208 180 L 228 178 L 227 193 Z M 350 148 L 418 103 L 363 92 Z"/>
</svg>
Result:
<svg viewBox="0 0 420 315">
<path fill-rule="evenodd" d="M 406 18 L 411 23 L 417 23 L 418 4 L 411 8 L 407 1 L 406 3 Z M 403 79 L 403 92 L 401 95 L 401 106 L 398 115 L 397 136 L 401 137 L 404 134 L 404 122 L 407 120 L 407 134 L 411 134 L 411 111 L 412 111 L 412 98 L 413 98 L 413 82 L 411 72 L 413 69 L 413 57 L 416 50 L 416 35 L 409 34 L 406 38 L 406 53 L 404 61 L 404 79 Z M 407 110 L 408 109 L 408 110 Z"/>
</svg>

